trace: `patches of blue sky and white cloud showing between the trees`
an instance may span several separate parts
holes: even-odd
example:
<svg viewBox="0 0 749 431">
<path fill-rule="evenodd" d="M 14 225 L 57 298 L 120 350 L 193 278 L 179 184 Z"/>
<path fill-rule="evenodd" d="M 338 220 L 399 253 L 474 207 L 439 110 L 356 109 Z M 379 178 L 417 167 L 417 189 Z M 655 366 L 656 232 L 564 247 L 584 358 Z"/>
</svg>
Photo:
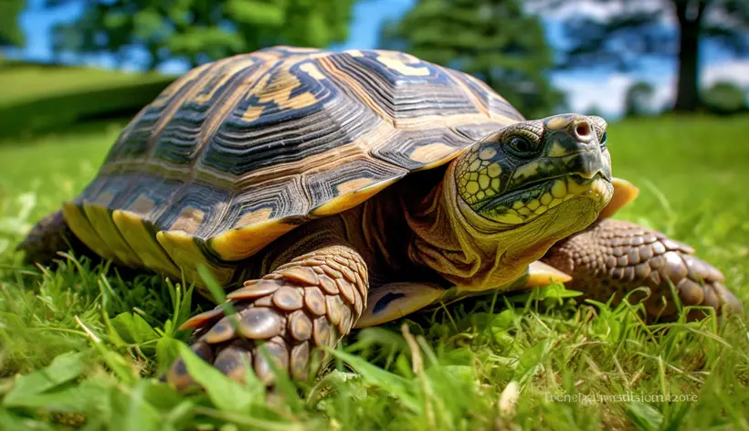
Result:
<svg viewBox="0 0 749 431">
<path fill-rule="evenodd" d="M 14 58 L 49 61 L 52 58 L 49 29 L 55 23 L 74 19 L 80 14 L 79 4 L 70 4 L 49 10 L 41 7 L 43 0 L 28 0 L 26 11 L 20 17 L 26 34 L 26 47 L 14 49 L 8 54 Z M 416 0 L 363 0 L 354 6 L 353 23 L 349 40 L 340 47 L 372 48 L 377 46 L 380 26 L 387 19 L 397 18 L 416 3 Z M 596 13 L 597 6 L 588 4 L 588 11 Z M 593 8 L 593 9 L 590 9 Z M 554 17 L 545 19 L 546 36 L 554 45 L 561 39 L 560 27 Z M 91 66 L 111 68 L 113 61 L 107 55 L 63 58 L 67 61 L 83 62 Z M 125 68 L 137 69 L 137 56 Z M 167 72 L 184 71 L 181 62 L 170 62 L 162 68 Z M 567 93 L 573 110 L 585 111 L 593 106 L 609 115 L 617 115 L 622 108 L 625 90 L 637 80 L 646 80 L 656 88 L 656 102 L 668 103 L 673 97 L 676 64 L 664 58 L 649 62 L 648 68 L 631 73 L 619 73 L 607 69 L 581 68 L 575 72 L 554 73 L 554 84 Z M 749 88 L 749 58 L 731 58 L 720 47 L 707 45 L 702 50 L 702 83 L 709 85 L 715 80 L 730 79 Z"/>
</svg>

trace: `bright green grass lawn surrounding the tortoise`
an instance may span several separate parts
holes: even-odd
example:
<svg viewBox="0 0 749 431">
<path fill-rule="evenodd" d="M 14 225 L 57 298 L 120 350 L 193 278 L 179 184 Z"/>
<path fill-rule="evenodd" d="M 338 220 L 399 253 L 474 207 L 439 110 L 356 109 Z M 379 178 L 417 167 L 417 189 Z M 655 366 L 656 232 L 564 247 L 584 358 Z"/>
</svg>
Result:
<svg viewBox="0 0 749 431">
<path fill-rule="evenodd" d="M 0 429 L 749 428 L 746 314 L 646 325 L 636 306 L 579 305 L 554 288 L 355 332 L 332 373 L 269 401 L 199 361 L 188 366 L 206 391 L 176 394 L 154 376 L 185 341 L 174 327 L 196 301 L 184 287 L 74 258 L 22 268 L 12 251 L 90 180 L 116 134 L 0 144 Z M 618 216 L 691 243 L 749 305 L 747 134 L 746 117 L 626 121 L 609 146 L 617 176 L 642 189 Z M 620 399 L 552 399 L 565 394 Z M 696 401 L 621 399 L 659 394 Z"/>
</svg>

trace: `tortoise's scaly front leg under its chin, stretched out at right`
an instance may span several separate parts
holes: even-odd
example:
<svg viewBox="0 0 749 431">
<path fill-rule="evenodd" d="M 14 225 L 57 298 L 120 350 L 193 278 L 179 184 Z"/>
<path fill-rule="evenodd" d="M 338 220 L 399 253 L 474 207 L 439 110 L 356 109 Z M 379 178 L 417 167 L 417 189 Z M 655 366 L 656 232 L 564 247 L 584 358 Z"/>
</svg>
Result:
<svg viewBox="0 0 749 431">
<path fill-rule="evenodd" d="M 676 314 L 671 285 L 684 307 L 741 312 L 741 301 L 722 284 L 723 274 L 693 253 L 693 248 L 659 232 L 606 219 L 555 244 L 542 261 L 571 275 L 567 286 L 594 300 L 607 301 L 616 294 L 618 301 L 631 289 L 647 287 L 651 294 L 644 305 L 654 317 Z M 701 316 L 700 311 L 690 315 Z"/>
</svg>

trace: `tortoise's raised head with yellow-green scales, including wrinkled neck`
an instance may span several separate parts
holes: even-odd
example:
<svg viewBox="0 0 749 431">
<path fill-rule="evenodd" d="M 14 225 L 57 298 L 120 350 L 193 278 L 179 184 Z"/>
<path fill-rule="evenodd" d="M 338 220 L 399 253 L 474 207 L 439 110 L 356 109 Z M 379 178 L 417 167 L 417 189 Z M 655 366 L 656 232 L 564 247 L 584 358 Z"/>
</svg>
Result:
<svg viewBox="0 0 749 431">
<path fill-rule="evenodd" d="M 448 226 L 432 231 L 449 229 L 455 241 L 429 251 L 441 255 L 430 265 L 459 289 L 509 286 L 555 242 L 593 223 L 614 193 L 606 129 L 602 118 L 564 114 L 476 142 L 448 167 L 440 204 Z"/>
</svg>

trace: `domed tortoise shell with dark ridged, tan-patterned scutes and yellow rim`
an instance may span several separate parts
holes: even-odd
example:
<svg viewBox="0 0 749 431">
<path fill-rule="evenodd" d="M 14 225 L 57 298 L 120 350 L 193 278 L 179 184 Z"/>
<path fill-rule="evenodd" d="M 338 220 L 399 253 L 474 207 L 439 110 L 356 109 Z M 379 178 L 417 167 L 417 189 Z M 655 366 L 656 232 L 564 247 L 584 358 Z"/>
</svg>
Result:
<svg viewBox="0 0 749 431">
<path fill-rule="evenodd" d="M 272 47 L 177 79 L 63 215 L 103 258 L 226 283 L 295 226 L 522 120 L 479 79 L 407 54 Z"/>
</svg>

